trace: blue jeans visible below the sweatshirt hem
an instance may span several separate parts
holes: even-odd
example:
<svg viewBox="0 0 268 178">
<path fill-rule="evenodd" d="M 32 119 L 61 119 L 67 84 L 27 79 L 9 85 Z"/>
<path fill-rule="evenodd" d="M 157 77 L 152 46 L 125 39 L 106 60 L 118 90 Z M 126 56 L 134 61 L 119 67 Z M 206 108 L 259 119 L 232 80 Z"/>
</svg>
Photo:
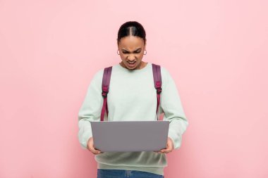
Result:
<svg viewBox="0 0 268 178">
<path fill-rule="evenodd" d="M 164 178 L 163 175 L 138 170 L 97 169 L 97 178 Z"/>
</svg>

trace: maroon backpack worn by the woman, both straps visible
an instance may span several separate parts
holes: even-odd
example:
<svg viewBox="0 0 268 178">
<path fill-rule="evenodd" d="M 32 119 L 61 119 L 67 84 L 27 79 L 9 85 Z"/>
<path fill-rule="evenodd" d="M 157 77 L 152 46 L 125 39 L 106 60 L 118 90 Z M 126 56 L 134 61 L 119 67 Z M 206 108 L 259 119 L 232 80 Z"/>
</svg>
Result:
<svg viewBox="0 0 268 178">
<path fill-rule="evenodd" d="M 161 77 L 161 70 L 160 65 L 156 65 L 152 63 L 152 72 L 154 76 L 154 88 L 157 90 L 157 120 L 158 118 L 158 110 L 160 105 L 160 94 L 162 92 L 162 77 Z M 108 115 L 108 105 L 107 105 L 107 94 L 109 93 L 109 85 L 111 79 L 111 70 L 112 66 L 108 68 L 104 68 L 104 73 L 102 76 L 102 96 L 104 98 L 103 105 L 102 105 L 102 114 L 101 114 L 101 121 L 104 121 L 104 113 Z"/>
</svg>

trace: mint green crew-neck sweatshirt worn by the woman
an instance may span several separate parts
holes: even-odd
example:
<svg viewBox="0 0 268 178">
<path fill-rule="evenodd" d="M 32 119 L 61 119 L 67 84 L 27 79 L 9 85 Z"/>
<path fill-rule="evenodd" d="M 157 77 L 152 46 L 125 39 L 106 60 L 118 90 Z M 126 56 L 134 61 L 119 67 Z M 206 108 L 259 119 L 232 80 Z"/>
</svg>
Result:
<svg viewBox="0 0 268 178">
<path fill-rule="evenodd" d="M 104 69 L 95 73 L 78 113 L 78 139 L 82 148 L 92 136 L 90 121 L 99 121 L 102 110 L 102 75 Z M 159 114 L 169 120 L 169 137 L 174 149 L 181 146 L 182 135 L 188 127 L 181 99 L 169 71 L 161 67 L 162 93 Z M 157 120 L 157 91 L 154 88 L 152 63 L 145 68 L 128 70 L 113 65 L 109 94 L 107 95 L 109 115 L 104 120 Z M 164 175 L 167 166 L 166 154 L 151 151 L 104 152 L 95 155 L 98 169 L 140 170 Z"/>
</svg>

